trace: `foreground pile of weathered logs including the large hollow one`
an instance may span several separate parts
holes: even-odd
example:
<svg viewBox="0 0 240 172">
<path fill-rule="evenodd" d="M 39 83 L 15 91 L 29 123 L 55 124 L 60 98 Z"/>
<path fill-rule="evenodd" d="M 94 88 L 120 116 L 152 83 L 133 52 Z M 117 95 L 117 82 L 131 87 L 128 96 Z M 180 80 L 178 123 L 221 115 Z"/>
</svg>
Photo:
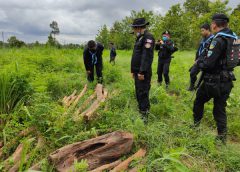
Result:
<svg viewBox="0 0 240 172">
<path fill-rule="evenodd" d="M 24 130 L 26 134 L 30 130 Z M 30 138 L 27 142 L 33 144 L 34 138 Z M 44 145 L 42 137 L 38 137 L 35 143 L 35 149 L 40 150 Z M 121 172 L 129 171 L 136 172 L 137 168 L 129 169 L 130 163 L 134 160 L 143 158 L 146 150 L 140 149 L 134 155 L 122 161 L 121 158 L 130 153 L 133 145 L 133 135 L 128 132 L 115 131 L 96 138 L 85 140 L 82 142 L 66 145 L 48 156 L 49 163 L 52 164 L 56 171 L 68 172 L 75 171 L 74 163 L 86 160 L 88 163 L 89 172 Z M 0 143 L 2 147 L 2 143 Z M 14 153 L 4 162 L 4 170 L 9 172 L 17 172 L 20 167 L 20 160 L 23 156 L 24 144 L 18 145 Z M 0 149 L 1 152 L 2 148 Z M 24 162 L 27 162 L 31 157 L 31 153 L 26 153 Z M 41 171 L 41 164 L 33 165 L 29 171 Z"/>
</svg>

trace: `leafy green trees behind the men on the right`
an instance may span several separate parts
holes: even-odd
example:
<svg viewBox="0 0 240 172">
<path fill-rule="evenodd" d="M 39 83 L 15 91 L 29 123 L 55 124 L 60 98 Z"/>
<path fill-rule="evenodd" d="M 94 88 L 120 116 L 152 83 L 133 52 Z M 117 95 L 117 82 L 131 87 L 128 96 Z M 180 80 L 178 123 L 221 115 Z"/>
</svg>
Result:
<svg viewBox="0 0 240 172">
<path fill-rule="evenodd" d="M 155 39 L 160 39 L 162 32 L 169 30 L 176 46 L 182 50 L 192 49 L 198 46 L 200 26 L 211 22 L 211 16 L 215 13 L 225 13 L 230 17 L 230 28 L 240 35 L 240 4 L 234 9 L 229 8 L 228 0 L 186 0 L 183 5 L 173 5 L 165 16 L 153 11 L 132 11 L 130 16 L 121 21 L 115 21 L 108 28 L 103 25 L 98 31 L 96 40 L 105 47 L 109 42 L 115 43 L 118 49 L 131 49 L 135 37 L 131 34 L 129 25 L 137 17 L 145 17 L 149 22 L 149 30 Z"/>
</svg>

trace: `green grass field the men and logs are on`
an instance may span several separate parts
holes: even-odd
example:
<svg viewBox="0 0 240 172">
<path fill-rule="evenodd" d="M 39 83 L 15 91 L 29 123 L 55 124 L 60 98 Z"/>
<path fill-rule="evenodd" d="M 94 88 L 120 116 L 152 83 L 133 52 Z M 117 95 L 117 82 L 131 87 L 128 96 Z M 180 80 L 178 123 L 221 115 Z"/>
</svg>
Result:
<svg viewBox="0 0 240 172">
<path fill-rule="evenodd" d="M 1 162 L 14 152 L 19 143 L 23 143 L 25 151 L 20 171 L 39 161 L 42 171 L 54 171 L 46 158 L 57 148 L 110 131 L 124 130 L 134 134 L 132 153 L 140 147 L 147 148 L 145 163 L 139 171 L 240 171 L 240 69 L 235 71 L 238 80 L 228 100 L 228 144 L 215 146 L 212 101 L 205 106 L 200 128 L 190 128 L 194 99 L 191 100 L 192 93 L 186 89 L 189 86 L 188 69 L 195 52 L 174 54 L 168 90 L 164 85 L 157 84 L 155 54 L 147 126 L 137 110 L 134 83 L 130 75 L 131 53 L 118 51 L 116 65 L 112 66 L 108 62 L 109 51 L 104 51 L 104 86 L 109 96 L 97 111 L 95 119 L 85 124 L 83 121 L 74 122 L 72 112 L 64 113 L 60 103 L 65 95 L 70 95 L 74 89 L 80 91 L 87 83 L 81 49 L 1 49 L 0 83 L 17 78 L 20 86 L 14 89 L 18 88 L 29 95 L 20 101 L 25 103 L 18 103 L 12 110 L 1 110 L 0 141 L 4 142 Z M 85 98 L 93 92 L 95 85 L 89 84 Z M 4 91 L 0 91 L 3 94 Z M 22 130 L 33 126 L 37 132 L 26 137 L 19 136 Z M 44 140 L 41 149 L 32 146 L 37 141 L 36 136 Z M 29 141 L 29 138 L 33 139 Z M 27 154 L 30 158 L 25 161 Z M 131 165 L 136 164 L 138 162 Z M 4 166 L 4 163 L 0 163 L 0 170 L 4 171 Z"/>
</svg>

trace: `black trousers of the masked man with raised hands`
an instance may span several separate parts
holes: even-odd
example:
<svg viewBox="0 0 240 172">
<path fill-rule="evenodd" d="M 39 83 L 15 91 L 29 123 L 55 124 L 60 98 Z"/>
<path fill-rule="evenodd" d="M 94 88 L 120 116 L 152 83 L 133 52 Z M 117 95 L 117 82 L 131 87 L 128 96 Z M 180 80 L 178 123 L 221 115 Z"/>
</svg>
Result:
<svg viewBox="0 0 240 172">
<path fill-rule="evenodd" d="M 160 62 L 158 63 L 158 70 L 157 70 L 157 74 L 158 74 L 158 82 L 162 82 L 163 77 L 162 75 L 164 75 L 164 80 L 166 84 L 170 83 L 170 79 L 169 79 L 169 67 L 170 67 L 170 62 Z"/>
</svg>

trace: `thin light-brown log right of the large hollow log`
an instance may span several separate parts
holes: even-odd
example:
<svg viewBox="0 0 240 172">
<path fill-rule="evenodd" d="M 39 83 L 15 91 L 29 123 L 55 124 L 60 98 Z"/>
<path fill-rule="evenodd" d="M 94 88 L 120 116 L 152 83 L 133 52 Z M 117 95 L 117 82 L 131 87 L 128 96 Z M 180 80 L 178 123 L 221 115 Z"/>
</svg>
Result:
<svg viewBox="0 0 240 172">
<path fill-rule="evenodd" d="M 137 158 L 142 158 L 146 155 L 145 149 L 140 149 L 137 151 L 134 155 L 123 161 L 121 164 L 119 164 L 117 167 L 115 167 L 111 172 L 121 172 L 128 169 L 129 164 Z"/>
</svg>

